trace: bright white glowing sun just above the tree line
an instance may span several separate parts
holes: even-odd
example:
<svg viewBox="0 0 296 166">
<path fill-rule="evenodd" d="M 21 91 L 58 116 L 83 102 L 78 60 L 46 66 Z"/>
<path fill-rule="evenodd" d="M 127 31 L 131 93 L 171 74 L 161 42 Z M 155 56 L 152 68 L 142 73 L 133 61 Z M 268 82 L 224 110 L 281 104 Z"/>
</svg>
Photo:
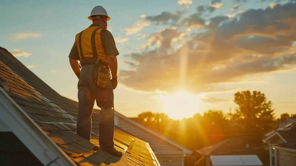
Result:
<svg viewBox="0 0 296 166">
<path fill-rule="evenodd" d="M 159 100 L 165 114 L 172 119 L 181 120 L 201 112 L 202 101 L 200 97 L 186 91 L 178 91 L 169 96 L 160 96 Z"/>
</svg>

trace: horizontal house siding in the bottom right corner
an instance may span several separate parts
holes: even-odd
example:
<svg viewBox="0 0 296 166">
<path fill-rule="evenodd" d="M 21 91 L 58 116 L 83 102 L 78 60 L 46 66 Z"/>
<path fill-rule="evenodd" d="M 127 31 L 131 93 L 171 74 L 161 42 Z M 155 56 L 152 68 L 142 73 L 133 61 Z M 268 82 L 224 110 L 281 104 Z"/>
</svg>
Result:
<svg viewBox="0 0 296 166">
<path fill-rule="evenodd" d="M 276 166 L 296 166 L 296 152 L 276 149 Z"/>
</svg>

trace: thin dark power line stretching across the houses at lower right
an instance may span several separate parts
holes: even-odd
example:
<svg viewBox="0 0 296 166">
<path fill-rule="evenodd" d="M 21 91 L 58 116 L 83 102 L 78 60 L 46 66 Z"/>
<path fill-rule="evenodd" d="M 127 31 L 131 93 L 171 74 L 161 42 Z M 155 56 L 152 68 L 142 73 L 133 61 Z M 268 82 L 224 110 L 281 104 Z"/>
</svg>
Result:
<svg viewBox="0 0 296 166">
<path fill-rule="evenodd" d="M 285 144 L 283 143 L 284 145 L 296 145 L 296 143 L 293 143 L 293 144 Z M 277 146 L 281 146 L 282 144 L 279 144 Z M 225 154 L 225 153 L 231 153 L 231 152 L 244 152 L 244 151 L 248 151 L 248 150 L 251 150 L 251 149 L 262 149 L 262 148 L 267 148 L 267 147 L 272 147 L 274 145 L 271 145 L 271 146 L 261 146 L 261 147 L 256 147 L 256 148 L 249 148 L 249 149 L 244 149 L 244 150 L 234 150 L 234 151 L 228 151 L 228 152 L 218 152 L 218 153 L 213 153 L 213 154 L 208 154 L 208 155 L 195 155 L 195 156 L 178 156 L 178 157 L 157 157 L 157 158 L 181 158 L 181 157 L 189 157 L 188 159 L 192 159 L 193 157 L 202 157 L 202 156 L 209 156 L 209 155 L 216 155 L 216 154 Z M 188 159 L 182 159 L 182 160 L 164 160 L 164 161 L 161 161 L 161 162 L 174 162 L 174 161 L 185 161 L 185 160 L 188 160 Z"/>
</svg>

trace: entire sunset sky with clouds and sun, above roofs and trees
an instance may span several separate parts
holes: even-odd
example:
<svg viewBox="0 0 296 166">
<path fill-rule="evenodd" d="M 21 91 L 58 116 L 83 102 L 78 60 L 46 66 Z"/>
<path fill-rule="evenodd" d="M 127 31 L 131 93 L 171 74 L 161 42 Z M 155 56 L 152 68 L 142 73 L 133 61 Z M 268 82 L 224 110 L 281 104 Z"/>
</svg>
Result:
<svg viewBox="0 0 296 166">
<path fill-rule="evenodd" d="M 234 93 L 259 90 L 276 116 L 296 113 L 296 0 L 1 1 L 0 46 L 77 101 L 68 55 L 96 5 L 118 55 L 115 109 L 174 119 L 234 112 Z"/>
</svg>

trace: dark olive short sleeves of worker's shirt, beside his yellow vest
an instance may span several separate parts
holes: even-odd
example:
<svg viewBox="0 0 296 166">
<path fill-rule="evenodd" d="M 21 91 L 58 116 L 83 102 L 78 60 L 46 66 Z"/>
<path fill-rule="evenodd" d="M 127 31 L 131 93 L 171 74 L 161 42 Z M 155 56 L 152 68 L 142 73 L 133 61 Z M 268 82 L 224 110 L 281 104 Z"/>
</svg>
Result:
<svg viewBox="0 0 296 166">
<path fill-rule="evenodd" d="M 119 55 L 119 52 L 115 45 L 114 38 L 108 30 L 104 30 L 104 29 L 101 30 L 101 42 L 107 56 L 113 55 L 113 54 L 115 54 L 116 56 Z M 76 59 L 78 61 L 80 60 L 78 49 L 75 43 L 73 44 L 73 47 L 68 57 L 72 59 Z"/>
</svg>

